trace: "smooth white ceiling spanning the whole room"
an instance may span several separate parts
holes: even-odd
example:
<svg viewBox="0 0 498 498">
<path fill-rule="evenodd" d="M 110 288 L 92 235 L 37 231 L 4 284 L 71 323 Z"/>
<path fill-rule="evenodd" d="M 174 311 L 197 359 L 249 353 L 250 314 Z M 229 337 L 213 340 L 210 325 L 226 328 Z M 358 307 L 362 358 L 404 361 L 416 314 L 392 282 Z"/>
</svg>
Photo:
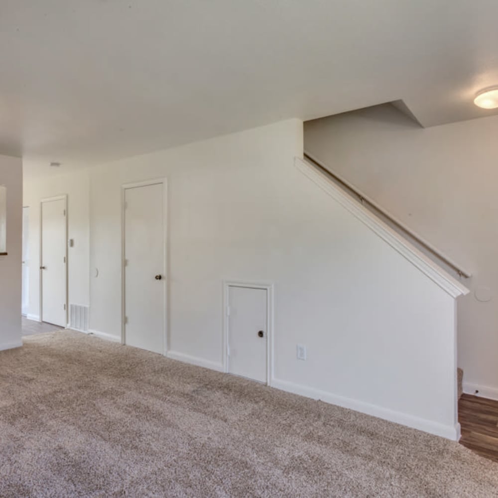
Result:
<svg viewBox="0 0 498 498">
<path fill-rule="evenodd" d="M 0 153 L 59 172 L 402 99 L 489 116 L 496 0 L 0 0 Z"/>
</svg>

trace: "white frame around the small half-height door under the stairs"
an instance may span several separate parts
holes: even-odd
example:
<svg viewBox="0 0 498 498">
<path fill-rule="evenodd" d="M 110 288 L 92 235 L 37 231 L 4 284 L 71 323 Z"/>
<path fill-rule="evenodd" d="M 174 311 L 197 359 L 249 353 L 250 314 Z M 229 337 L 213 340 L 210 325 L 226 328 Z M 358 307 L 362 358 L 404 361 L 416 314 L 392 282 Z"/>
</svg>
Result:
<svg viewBox="0 0 498 498">
<path fill-rule="evenodd" d="M 256 283 L 240 280 L 223 281 L 223 371 L 229 373 L 229 316 L 230 287 L 266 290 L 266 385 L 273 379 L 273 283 Z"/>
</svg>

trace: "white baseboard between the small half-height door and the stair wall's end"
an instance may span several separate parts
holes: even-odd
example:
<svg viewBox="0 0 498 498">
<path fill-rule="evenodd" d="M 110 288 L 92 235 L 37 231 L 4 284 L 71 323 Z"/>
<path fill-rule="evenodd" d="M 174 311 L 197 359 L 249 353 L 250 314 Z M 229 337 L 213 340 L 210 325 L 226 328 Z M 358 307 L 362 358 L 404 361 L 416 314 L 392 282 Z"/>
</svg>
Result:
<svg viewBox="0 0 498 498">
<path fill-rule="evenodd" d="M 332 394 L 330 392 L 305 385 L 295 384 L 286 380 L 274 378 L 271 380 L 271 386 L 276 389 L 281 389 L 282 391 L 292 392 L 294 394 L 299 394 L 312 399 L 320 399 L 321 401 L 325 401 L 327 403 L 342 406 L 344 408 L 350 408 L 374 417 L 383 418 L 384 420 L 389 420 L 390 422 L 406 425 L 408 427 L 412 427 L 413 429 L 429 432 L 430 434 L 451 439 L 452 441 L 458 441 L 460 439 L 460 424 L 458 423 L 454 426 L 444 425 L 438 422 L 433 422 L 432 420 L 390 410 L 389 408 L 382 408 L 381 406 L 366 403 L 365 401 L 338 396 L 337 394 Z"/>
</svg>

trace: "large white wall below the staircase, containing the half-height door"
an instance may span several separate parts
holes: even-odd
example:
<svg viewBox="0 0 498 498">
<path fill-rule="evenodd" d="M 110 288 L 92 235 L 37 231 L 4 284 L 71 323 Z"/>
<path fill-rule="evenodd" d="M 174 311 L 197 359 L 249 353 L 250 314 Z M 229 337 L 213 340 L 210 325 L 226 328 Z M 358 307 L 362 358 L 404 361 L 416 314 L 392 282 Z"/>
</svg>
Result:
<svg viewBox="0 0 498 498">
<path fill-rule="evenodd" d="M 91 329 L 121 333 L 121 185 L 167 177 L 173 356 L 221 370 L 223 280 L 272 282 L 274 386 L 455 438 L 454 300 L 294 167 L 302 139 L 290 120 L 92 168 Z"/>
</svg>

